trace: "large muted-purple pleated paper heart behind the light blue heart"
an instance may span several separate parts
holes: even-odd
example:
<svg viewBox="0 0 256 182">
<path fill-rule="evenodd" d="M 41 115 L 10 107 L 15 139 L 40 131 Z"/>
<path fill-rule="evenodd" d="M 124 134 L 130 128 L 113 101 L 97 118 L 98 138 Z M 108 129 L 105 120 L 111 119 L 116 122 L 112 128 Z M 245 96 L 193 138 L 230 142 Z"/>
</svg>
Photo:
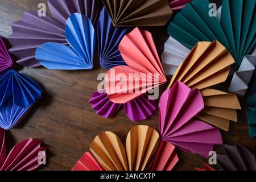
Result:
<svg viewBox="0 0 256 182">
<path fill-rule="evenodd" d="M 49 16 L 39 17 L 38 11 L 28 11 L 22 20 L 12 24 L 13 34 L 9 36 L 10 52 L 16 62 L 26 67 L 38 67 L 35 59 L 36 48 L 47 42 L 67 44 L 65 39 L 65 23 L 73 13 L 81 13 L 97 23 L 101 11 L 100 0 L 51 0 L 48 1 Z"/>
</svg>

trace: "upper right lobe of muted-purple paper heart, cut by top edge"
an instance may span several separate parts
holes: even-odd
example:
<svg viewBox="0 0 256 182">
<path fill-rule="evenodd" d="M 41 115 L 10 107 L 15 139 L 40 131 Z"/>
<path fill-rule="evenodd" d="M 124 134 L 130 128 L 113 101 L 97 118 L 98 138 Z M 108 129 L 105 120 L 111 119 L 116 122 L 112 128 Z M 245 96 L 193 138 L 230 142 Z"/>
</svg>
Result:
<svg viewBox="0 0 256 182">
<path fill-rule="evenodd" d="M 48 0 L 48 6 L 52 17 L 63 26 L 73 13 L 87 16 L 95 25 L 102 7 L 100 0 Z"/>
</svg>

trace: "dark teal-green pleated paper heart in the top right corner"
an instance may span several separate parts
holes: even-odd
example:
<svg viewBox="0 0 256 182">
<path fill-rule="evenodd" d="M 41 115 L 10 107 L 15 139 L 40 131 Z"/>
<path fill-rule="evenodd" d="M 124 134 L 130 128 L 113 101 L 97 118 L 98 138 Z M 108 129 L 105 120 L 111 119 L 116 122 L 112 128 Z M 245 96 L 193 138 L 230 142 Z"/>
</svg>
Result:
<svg viewBox="0 0 256 182">
<path fill-rule="evenodd" d="M 209 16 L 208 1 L 195 0 L 175 16 L 168 33 L 189 49 L 197 42 L 218 40 L 240 66 L 256 43 L 255 4 L 255 0 L 224 0 L 219 22 L 216 16 Z"/>
</svg>

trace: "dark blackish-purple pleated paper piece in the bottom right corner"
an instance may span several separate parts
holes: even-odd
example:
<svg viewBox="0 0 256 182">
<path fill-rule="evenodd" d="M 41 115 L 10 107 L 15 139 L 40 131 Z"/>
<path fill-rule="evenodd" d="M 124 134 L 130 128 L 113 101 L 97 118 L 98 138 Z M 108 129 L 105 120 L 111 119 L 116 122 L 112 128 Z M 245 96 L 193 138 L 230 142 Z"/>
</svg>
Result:
<svg viewBox="0 0 256 182">
<path fill-rule="evenodd" d="M 235 146 L 224 144 L 226 155 L 217 155 L 217 163 L 221 171 L 255 171 L 255 156 L 249 150 L 235 143 Z"/>
</svg>

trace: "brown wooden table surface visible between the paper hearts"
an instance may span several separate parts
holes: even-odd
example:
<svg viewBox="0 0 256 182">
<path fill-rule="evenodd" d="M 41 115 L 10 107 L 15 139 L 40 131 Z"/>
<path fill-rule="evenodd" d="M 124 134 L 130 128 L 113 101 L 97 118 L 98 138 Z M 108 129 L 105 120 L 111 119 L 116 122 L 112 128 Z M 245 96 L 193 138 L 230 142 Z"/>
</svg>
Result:
<svg viewBox="0 0 256 182">
<path fill-rule="evenodd" d="M 40 2 L 46 0 L 0 0 L 0 35 L 9 36 L 12 33 L 11 23 L 20 20 L 24 11 L 37 10 Z M 168 38 L 166 27 L 147 30 L 154 34 L 156 45 L 163 46 Z M 127 133 L 135 125 L 150 125 L 158 129 L 158 111 L 147 121 L 135 123 L 129 121 L 122 110 L 116 117 L 109 119 L 94 112 L 88 100 L 97 89 L 97 75 L 106 72 L 98 66 L 97 59 L 94 62 L 96 66 L 91 71 L 48 71 L 42 67 L 20 70 L 42 85 L 44 92 L 18 128 L 6 132 L 9 150 L 15 143 L 26 138 L 40 139 L 47 147 L 48 154 L 47 165 L 40 169 L 70 170 L 89 150 L 94 137 L 104 131 L 112 131 L 125 141 Z M 226 85 L 220 87 L 226 88 Z M 164 88 L 162 86 L 161 89 Z M 239 122 L 232 122 L 229 132 L 221 131 L 222 138 L 226 144 L 238 142 L 256 154 L 256 140 L 247 134 L 245 99 L 241 100 L 241 105 L 243 110 L 238 111 Z M 217 147 L 217 151 L 222 152 L 221 147 Z M 207 162 L 207 159 L 199 155 L 180 150 L 177 152 L 180 161 L 176 170 L 193 170 Z"/>
</svg>

